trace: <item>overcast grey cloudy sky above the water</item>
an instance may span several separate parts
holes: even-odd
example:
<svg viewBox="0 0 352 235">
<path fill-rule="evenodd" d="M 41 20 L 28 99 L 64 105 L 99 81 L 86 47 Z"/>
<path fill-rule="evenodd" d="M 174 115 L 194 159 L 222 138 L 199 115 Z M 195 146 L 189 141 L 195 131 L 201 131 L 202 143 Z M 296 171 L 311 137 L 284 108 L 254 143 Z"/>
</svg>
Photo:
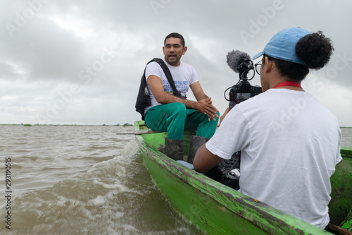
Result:
<svg viewBox="0 0 352 235">
<path fill-rule="evenodd" d="M 133 123 L 144 66 L 163 57 L 170 32 L 184 35 L 182 61 L 222 113 L 224 91 L 238 81 L 227 53 L 253 56 L 277 31 L 299 26 L 322 30 L 335 49 L 303 89 L 352 126 L 351 9 L 348 0 L 1 0 L 0 123 Z"/>
</svg>

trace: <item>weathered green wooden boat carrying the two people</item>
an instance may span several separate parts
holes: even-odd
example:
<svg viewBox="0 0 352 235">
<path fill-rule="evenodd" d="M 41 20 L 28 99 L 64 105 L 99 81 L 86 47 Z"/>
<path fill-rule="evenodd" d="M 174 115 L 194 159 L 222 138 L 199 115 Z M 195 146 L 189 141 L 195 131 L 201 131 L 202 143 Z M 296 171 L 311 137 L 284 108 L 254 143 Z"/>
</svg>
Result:
<svg viewBox="0 0 352 235">
<path fill-rule="evenodd" d="M 342 147 L 344 160 L 331 178 L 330 224 L 319 229 L 255 198 L 184 167 L 163 149 L 165 132 L 134 123 L 137 143 L 156 186 L 170 205 L 207 234 L 352 234 L 352 147 Z M 191 134 L 184 133 L 184 152 Z"/>
</svg>

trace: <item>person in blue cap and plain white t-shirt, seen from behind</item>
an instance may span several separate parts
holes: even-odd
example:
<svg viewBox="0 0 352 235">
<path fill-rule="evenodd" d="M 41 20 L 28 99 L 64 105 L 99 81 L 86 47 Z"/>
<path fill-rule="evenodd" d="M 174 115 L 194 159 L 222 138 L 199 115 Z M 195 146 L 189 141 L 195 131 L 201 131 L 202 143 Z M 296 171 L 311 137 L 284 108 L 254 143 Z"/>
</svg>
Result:
<svg viewBox="0 0 352 235">
<path fill-rule="evenodd" d="M 239 191 L 324 229 L 330 176 L 341 161 L 337 118 L 301 88 L 309 68 L 332 54 L 322 32 L 287 28 L 272 37 L 256 64 L 263 93 L 227 109 L 194 159 L 205 172 L 241 150 Z M 260 68 L 259 68 L 260 66 Z"/>
</svg>

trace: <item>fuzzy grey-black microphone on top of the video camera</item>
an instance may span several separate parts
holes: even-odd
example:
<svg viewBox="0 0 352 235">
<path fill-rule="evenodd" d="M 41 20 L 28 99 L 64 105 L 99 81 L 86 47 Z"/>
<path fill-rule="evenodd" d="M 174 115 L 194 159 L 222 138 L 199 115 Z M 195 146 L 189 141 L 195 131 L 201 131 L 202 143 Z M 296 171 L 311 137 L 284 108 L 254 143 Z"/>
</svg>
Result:
<svg viewBox="0 0 352 235">
<path fill-rule="evenodd" d="M 232 52 L 227 53 L 226 58 L 228 66 L 236 73 L 241 74 L 254 69 L 253 61 L 251 61 L 251 56 L 245 52 L 232 50 Z"/>
</svg>

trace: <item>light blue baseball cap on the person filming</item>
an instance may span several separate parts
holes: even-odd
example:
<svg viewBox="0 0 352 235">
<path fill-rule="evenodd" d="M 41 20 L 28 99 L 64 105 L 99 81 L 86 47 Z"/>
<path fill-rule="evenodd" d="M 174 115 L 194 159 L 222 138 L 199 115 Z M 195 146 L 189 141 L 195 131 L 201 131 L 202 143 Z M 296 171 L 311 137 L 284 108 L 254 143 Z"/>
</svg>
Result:
<svg viewBox="0 0 352 235">
<path fill-rule="evenodd" d="M 277 32 L 264 47 L 263 52 L 259 52 L 253 56 L 257 59 L 259 56 L 266 54 L 275 59 L 290 61 L 297 64 L 303 64 L 303 61 L 296 55 L 296 44 L 302 37 L 310 34 L 303 28 L 285 28 Z"/>
</svg>

